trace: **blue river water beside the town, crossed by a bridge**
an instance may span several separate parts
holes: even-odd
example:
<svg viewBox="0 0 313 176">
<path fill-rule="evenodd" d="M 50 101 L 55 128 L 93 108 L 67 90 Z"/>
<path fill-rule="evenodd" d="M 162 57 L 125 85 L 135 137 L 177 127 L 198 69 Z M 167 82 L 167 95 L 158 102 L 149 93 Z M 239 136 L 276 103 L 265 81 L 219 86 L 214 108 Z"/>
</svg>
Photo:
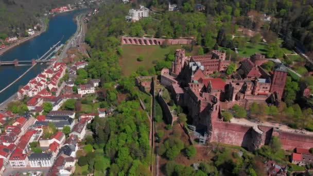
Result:
<svg viewBox="0 0 313 176">
<path fill-rule="evenodd" d="M 51 46 L 58 41 L 65 43 L 76 32 L 77 25 L 75 16 L 81 13 L 81 10 L 62 13 L 50 18 L 48 28 L 29 41 L 26 41 L 14 48 L 8 50 L 0 56 L 1 61 L 31 60 L 40 58 Z M 63 38 L 62 38 L 63 37 Z M 0 90 L 21 76 L 30 66 L 0 66 Z M 45 64 L 37 64 L 19 81 L 11 85 L 7 90 L 0 93 L 0 103 L 11 97 L 24 86 L 27 82 L 36 77 L 46 67 Z"/>
</svg>

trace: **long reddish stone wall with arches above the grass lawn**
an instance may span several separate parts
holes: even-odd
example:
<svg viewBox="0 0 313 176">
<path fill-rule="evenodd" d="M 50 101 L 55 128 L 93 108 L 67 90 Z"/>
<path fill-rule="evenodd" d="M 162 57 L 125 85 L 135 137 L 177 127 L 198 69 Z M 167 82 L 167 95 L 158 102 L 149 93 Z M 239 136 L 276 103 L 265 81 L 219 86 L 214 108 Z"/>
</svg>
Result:
<svg viewBox="0 0 313 176">
<path fill-rule="evenodd" d="M 167 42 L 168 45 L 186 45 L 191 44 L 193 39 L 157 39 L 157 38 L 137 38 L 121 37 L 122 45 L 162 45 Z"/>
</svg>

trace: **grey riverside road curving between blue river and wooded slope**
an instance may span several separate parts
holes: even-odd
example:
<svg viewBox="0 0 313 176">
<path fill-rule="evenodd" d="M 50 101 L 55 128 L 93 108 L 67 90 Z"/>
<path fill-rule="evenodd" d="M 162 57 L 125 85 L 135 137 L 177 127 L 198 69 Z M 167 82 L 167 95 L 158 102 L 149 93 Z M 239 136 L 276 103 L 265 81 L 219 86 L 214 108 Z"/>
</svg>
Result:
<svg viewBox="0 0 313 176">
<path fill-rule="evenodd" d="M 80 45 L 80 43 L 83 42 L 82 39 L 84 39 L 84 33 L 83 33 L 83 30 L 82 30 L 82 16 L 85 15 L 85 14 L 80 14 L 78 16 L 76 16 L 76 21 L 77 21 L 77 30 L 74 34 L 74 36 L 69 39 L 67 41 L 67 43 L 65 44 L 60 56 L 59 56 L 59 60 L 60 59 L 63 59 L 66 57 L 66 52 L 69 48 L 73 47 L 73 46 L 77 46 L 77 45 Z"/>
</svg>

